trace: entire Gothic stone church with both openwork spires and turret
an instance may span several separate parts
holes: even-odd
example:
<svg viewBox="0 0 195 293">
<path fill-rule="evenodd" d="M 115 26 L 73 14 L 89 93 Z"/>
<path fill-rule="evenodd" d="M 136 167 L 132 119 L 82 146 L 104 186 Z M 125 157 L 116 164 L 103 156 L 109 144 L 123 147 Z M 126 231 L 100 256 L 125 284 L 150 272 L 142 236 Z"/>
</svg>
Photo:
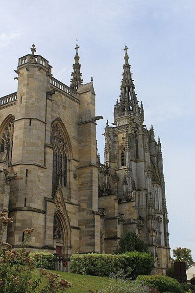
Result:
<svg viewBox="0 0 195 293">
<path fill-rule="evenodd" d="M 78 48 L 70 87 L 32 45 L 15 70 L 17 92 L 0 98 L 0 209 L 14 218 L 4 240 L 17 248 L 23 230 L 34 228 L 31 250 L 114 253 L 122 233 L 134 230 L 154 254 L 154 273 L 164 273 L 170 247 L 161 142 L 143 125 L 128 48 L 104 164 L 96 141 L 102 116 L 93 79 L 81 79 Z"/>
</svg>

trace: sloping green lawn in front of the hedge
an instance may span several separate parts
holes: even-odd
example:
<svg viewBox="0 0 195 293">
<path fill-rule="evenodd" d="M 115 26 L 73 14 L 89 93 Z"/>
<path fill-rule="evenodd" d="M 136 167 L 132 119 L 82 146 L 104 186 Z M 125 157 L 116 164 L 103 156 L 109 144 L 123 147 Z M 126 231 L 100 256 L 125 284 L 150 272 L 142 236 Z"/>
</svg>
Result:
<svg viewBox="0 0 195 293">
<path fill-rule="evenodd" d="M 96 293 L 96 290 L 101 289 L 109 282 L 108 277 L 77 275 L 71 272 L 53 270 L 52 272 L 60 275 L 60 278 L 63 278 L 72 284 L 72 287 L 67 289 L 67 293 L 87 293 L 88 290 L 93 290 Z M 38 275 L 38 269 L 34 270 L 32 279 L 35 279 L 36 277 L 38 277 Z"/>
</svg>

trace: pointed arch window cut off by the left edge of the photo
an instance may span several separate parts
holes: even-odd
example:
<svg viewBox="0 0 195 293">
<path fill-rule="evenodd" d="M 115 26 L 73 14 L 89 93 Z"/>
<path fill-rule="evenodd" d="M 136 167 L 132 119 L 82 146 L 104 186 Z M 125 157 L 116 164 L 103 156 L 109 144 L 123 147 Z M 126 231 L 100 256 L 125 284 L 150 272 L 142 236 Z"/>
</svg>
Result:
<svg viewBox="0 0 195 293">
<path fill-rule="evenodd" d="M 12 158 L 12 147 L 13 147 L 13 133 L 14 133 L 14 118 L 12 117 L 6 124 L 0 135 L 0 152 L 7 150 L 7 156 L 9 163 Z"/>
</svg>

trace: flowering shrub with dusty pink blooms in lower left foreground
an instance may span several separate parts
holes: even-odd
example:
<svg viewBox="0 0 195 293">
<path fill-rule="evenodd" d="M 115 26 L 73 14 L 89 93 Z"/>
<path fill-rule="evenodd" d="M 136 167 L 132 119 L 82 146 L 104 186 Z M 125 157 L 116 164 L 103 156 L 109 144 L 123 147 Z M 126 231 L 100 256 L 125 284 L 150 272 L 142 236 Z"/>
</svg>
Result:
<svg viewBox="0 0 195 293">
<path fill-rule="evenodd" d="M 31 281 L 34 260 L 29 256 L 25 245 L 29 243 L 29 235 L 34 229 L 24 229 L 24 241 L 19 249 L 12 249 L 8 243 L 2 243 L 3 232 L 7 225 L 13 222 L 12 218 L 0 212 L 0 293 L 56 293 L 59 290 L 65 292 L 71 283 L 61 279 L 58 275 L 45 270 L 40 270 L 40 275 L 35 281 Z M 40 289 L 42 278 L 46 278 L 47 284 Z"/>
</svg>

